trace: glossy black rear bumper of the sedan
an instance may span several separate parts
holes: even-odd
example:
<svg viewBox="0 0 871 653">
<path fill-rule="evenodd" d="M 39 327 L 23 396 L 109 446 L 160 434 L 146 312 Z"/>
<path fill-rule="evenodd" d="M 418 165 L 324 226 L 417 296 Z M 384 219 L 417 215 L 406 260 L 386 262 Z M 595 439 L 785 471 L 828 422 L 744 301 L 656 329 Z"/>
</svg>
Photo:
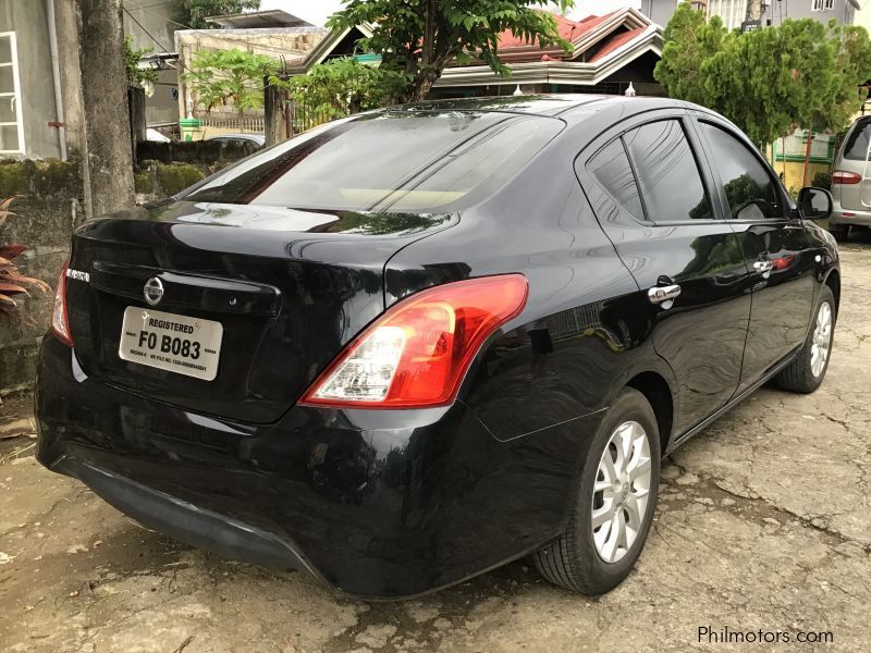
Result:
<svg viewBox="0 0 871 653">
<path fill-rule="evenodd" d="M 278 423 L 242 424 L 88 379 L 53 337 L 36 401 L 49 469 L 194 546 L 372 599 L 462 581 L 554 538 L 600 419 L 510 442 L 459 402 L 297 406 Z"/>
</svg>

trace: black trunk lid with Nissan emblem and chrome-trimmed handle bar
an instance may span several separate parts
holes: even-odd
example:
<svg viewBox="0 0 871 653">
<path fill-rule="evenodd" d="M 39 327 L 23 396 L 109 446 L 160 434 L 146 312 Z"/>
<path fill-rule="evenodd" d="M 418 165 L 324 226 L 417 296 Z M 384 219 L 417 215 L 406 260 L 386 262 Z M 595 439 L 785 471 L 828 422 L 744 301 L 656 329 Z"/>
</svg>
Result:
<svg viewBox="0 0 871 653">
<path fill-rule="evenodd" d="M 180 201 L 88 223 L 74 236 L 70 263 L 88 281 L 71 276 L 66 291 L 75 356 L 85 374 L 159 402 L 275 421 L 383 311 L 390 257 L 452 220 Z M 162 295 L 150 305 L 145 288 L 154 280 Z M 169 325 L 157 331 L 157 347 L 122 346 L 122 332 L 138 340 L 149 319 Z M 193 342 L 187 330 L 212 323 L 212 335 L 221 332 L 217 360 L 197 374 L 203 359 L 182 356 L 173 341 Z M 162 353 L 161 334 L 170 338 Z M 125 360 L 131 350 L 179 365 Z"/>
</svg>

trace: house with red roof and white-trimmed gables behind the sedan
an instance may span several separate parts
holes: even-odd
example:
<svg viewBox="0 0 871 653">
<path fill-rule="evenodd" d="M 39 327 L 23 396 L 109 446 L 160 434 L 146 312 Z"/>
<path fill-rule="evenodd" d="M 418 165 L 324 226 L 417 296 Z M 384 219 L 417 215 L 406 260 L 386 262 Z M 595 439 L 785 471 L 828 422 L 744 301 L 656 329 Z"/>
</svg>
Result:
<svg viewBox="0 0 871 653">
<path fill-rule="evenodd" d="M 560 36 L 571 44 L 541 48 L 506 32 L 500 59 L 510 77 L 493 73 L 482 61 L 451 65 L 436 83 L 432 97 L 523 93 L 622 94 L 629 85 L 639 95 L 662 95 L 653 67 L 662 56 L 662 28 L 641 12 L 625 8 L 580 21 L 555 16 Z"/>
</svg>

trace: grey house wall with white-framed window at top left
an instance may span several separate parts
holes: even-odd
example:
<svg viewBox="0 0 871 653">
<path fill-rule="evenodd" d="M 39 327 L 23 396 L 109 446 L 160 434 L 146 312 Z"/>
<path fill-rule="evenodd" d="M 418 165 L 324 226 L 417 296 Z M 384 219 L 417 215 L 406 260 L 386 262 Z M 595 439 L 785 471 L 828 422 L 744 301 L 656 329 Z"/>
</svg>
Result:
<svg viewBox="0 0 871 653">
<path fill-rule="evenodd" d="M 53 3 L 3 0 L 0 157 L 65 157 L 60 76 Z"/>
</svg>

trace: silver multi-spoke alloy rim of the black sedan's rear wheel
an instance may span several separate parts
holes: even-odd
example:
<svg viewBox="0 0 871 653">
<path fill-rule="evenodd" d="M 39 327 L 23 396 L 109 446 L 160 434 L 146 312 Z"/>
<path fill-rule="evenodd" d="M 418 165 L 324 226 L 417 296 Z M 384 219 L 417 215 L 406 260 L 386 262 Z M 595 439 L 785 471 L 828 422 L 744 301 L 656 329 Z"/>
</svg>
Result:
<svg viewBox="0 0 871 653">
<path fill-rule="evenodd" d="M 605 563 L 619 562 L 638 539 L 650 496 L 650 443 L 635 421 L 618 426 L 602 452 L 592 486 L 592 539 Z"/>
</svg>

